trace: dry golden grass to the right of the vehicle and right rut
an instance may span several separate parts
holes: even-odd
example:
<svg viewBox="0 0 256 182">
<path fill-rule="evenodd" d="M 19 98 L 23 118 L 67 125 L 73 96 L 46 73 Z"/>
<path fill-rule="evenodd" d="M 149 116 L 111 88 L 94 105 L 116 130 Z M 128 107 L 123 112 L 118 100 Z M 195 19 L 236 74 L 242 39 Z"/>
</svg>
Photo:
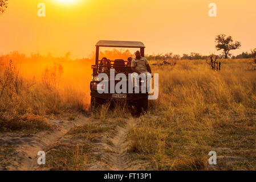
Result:
<svg viewBox="0 0 256 182">
<path fill-rule="evenodd" d="M 157 170 L 256 169 L 256 72 L 248 69 L 255 63 L 221 62 L 219 72 L 204 60 L 153 67 L 159 99 L 129 132 L 131 152 Z M 211 150 L 217 152 L 214 167 Z"/>
</svg>

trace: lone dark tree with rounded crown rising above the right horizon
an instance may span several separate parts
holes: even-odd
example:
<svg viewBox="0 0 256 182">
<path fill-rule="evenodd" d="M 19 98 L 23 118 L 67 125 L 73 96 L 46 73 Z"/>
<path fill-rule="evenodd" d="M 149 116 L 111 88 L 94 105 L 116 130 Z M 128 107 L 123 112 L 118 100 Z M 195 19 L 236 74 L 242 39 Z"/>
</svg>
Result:
<svg viewBox="0 0 256 182">
<path fill-rule="evenodd" d="M 215 42 L 217 43 L 216 45 L 217 51 L 220 51 L 221 49 L 223 49 L 225 59 L 227 59 L 227 56 L 231 55 L 229 51 L 238 49 L 239 47 L 241 47 L 241 42 L 236 41 L 233 43 L 233 38 L 231 36 L 226 36 L 225 34 L 217 35 Z"/>
</svg>

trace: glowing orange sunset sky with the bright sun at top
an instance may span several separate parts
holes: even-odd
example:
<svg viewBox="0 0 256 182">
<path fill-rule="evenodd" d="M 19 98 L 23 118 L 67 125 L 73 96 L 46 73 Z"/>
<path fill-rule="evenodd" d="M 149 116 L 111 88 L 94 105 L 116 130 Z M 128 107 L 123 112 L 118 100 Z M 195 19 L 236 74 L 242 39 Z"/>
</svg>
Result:
<svg viewBox="0 0 256 182">
<path fill-rule="evenodd" d="M 256 48 L 255 0 L 9 0 L 0 16 L 0 53 L 30 55 L 71 51 L 88 57 L 97 40 L 144 42 L 146 53 L 217 52 L 214 38 L 224 33 L 242 42 L 231 53 Z M 37 5 L 46 5 L 39 18 Z M 208 5 L 217 4 L 217 17 Z"/>
</svg>

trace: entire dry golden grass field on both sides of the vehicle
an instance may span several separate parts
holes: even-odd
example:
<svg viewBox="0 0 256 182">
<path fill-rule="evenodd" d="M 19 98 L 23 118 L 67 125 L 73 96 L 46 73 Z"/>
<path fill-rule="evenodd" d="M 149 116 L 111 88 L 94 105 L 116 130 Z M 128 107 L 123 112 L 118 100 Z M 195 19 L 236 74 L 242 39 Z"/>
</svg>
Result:
<svg viewBox="0 0 256 182">
<path fill-rule="evenodd" d="M 124 108 L 108 111 L 103 106 L 89 123 L 68 131 L 71 143 L 46 148 L 51 156 L 47 167 L 87 169 L 91 163 L 111 163 L 107 160 L 113 154 L 108 167 L 125 169 L 117 162 L 123 160 L 117 155 L 121 151 L 132 158 L 129 162 L 144 161 L 156 170 L 255 170 L 255 61 L 221 60 L 221 71 L 210 70 L 205 60 L 176 60 L 171 65 L 149 62 L 153 73 L 159 73 L 159 98 L 149 101 L 148 113 L 133 118 Z M 48 119 L 64 115 L 72 122 L 88 110 L 91 72 L 83 70 L 89 71 L 90 64 L 66 60 L 49 67 L 34 65 L 41 68 L 36 78 L 31 72 L 21 77 L 15 65 L 0 70 L 0 133 L 51 131 L 54 125 Z M 28 64 L 23 65 L 27 70 Z M 133 125 L 126 127 L 129 122 Z M 123 143 L 127 143 L 125 150 L 118 147 Z M 102 145 L 107 153 L 99 148 Z M 102 154 L 95 154 L 95 147 Z M 2 151 L 1 160 L 8 150 Z M 217 152 L 217 165 L 208 164 L 210 151 Z"/>
</svg>

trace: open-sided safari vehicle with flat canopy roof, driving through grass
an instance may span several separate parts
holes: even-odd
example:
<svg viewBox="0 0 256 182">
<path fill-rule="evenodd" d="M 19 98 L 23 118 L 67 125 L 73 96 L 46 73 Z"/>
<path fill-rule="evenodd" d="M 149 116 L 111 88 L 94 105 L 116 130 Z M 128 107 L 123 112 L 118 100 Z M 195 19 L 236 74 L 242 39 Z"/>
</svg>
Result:
<svg viewBox="0 0 256 182">
<path fill-rule="evenodd" d="M 112 40 L 100 40 L 96 44 L 96 59 L 95 65 L 92 65 L 92 81 L 90 83 L 91 90 L 91 110 L 92 112 L 96 111 L 97 108 L 105 104 L 106 102 L 111 102 L 115 105 L 116 102 L 125 103 L 129 108 L 135 108 L 137 113 L 141 113 L 141 111 L 148 110 L 148 92 L 147 93 L 128 93 L 128 86 L 126 93 L 98 93 L 97 92 L 97 84 L 101 82 L 101 80 L 97 79 L 97 76 L 100 73 L 100 60 L 99 60 L 99 48 L 100 47 L 120 47 L 120 48 L 140 48 L 141 56 L 144 57 L 144 44 L 142 42 L 128 42 L 128 41 L 112 41 Z M 128 58 L 128 57 L 127 57 Z M 127 77 L 127 85 L 128 85 L 128 74 L 133 73 L 131 67 L 127 67 L 128 61 L 124 61 L 118 59 L 116 57 L 115 60 L 108 61 L 109 67 L 115 69 L 115 76 L 117 73 L 124 73 Z M 109 73 L 108 73 L 109 74 Z M 108 90 L 110 90 L 110 82 L 111 78 L 108 77 Z M 118 81 L 115 81 L 115 85 Z M 141 91 L 141 90 L 140 90 Z"/>
</svg>

